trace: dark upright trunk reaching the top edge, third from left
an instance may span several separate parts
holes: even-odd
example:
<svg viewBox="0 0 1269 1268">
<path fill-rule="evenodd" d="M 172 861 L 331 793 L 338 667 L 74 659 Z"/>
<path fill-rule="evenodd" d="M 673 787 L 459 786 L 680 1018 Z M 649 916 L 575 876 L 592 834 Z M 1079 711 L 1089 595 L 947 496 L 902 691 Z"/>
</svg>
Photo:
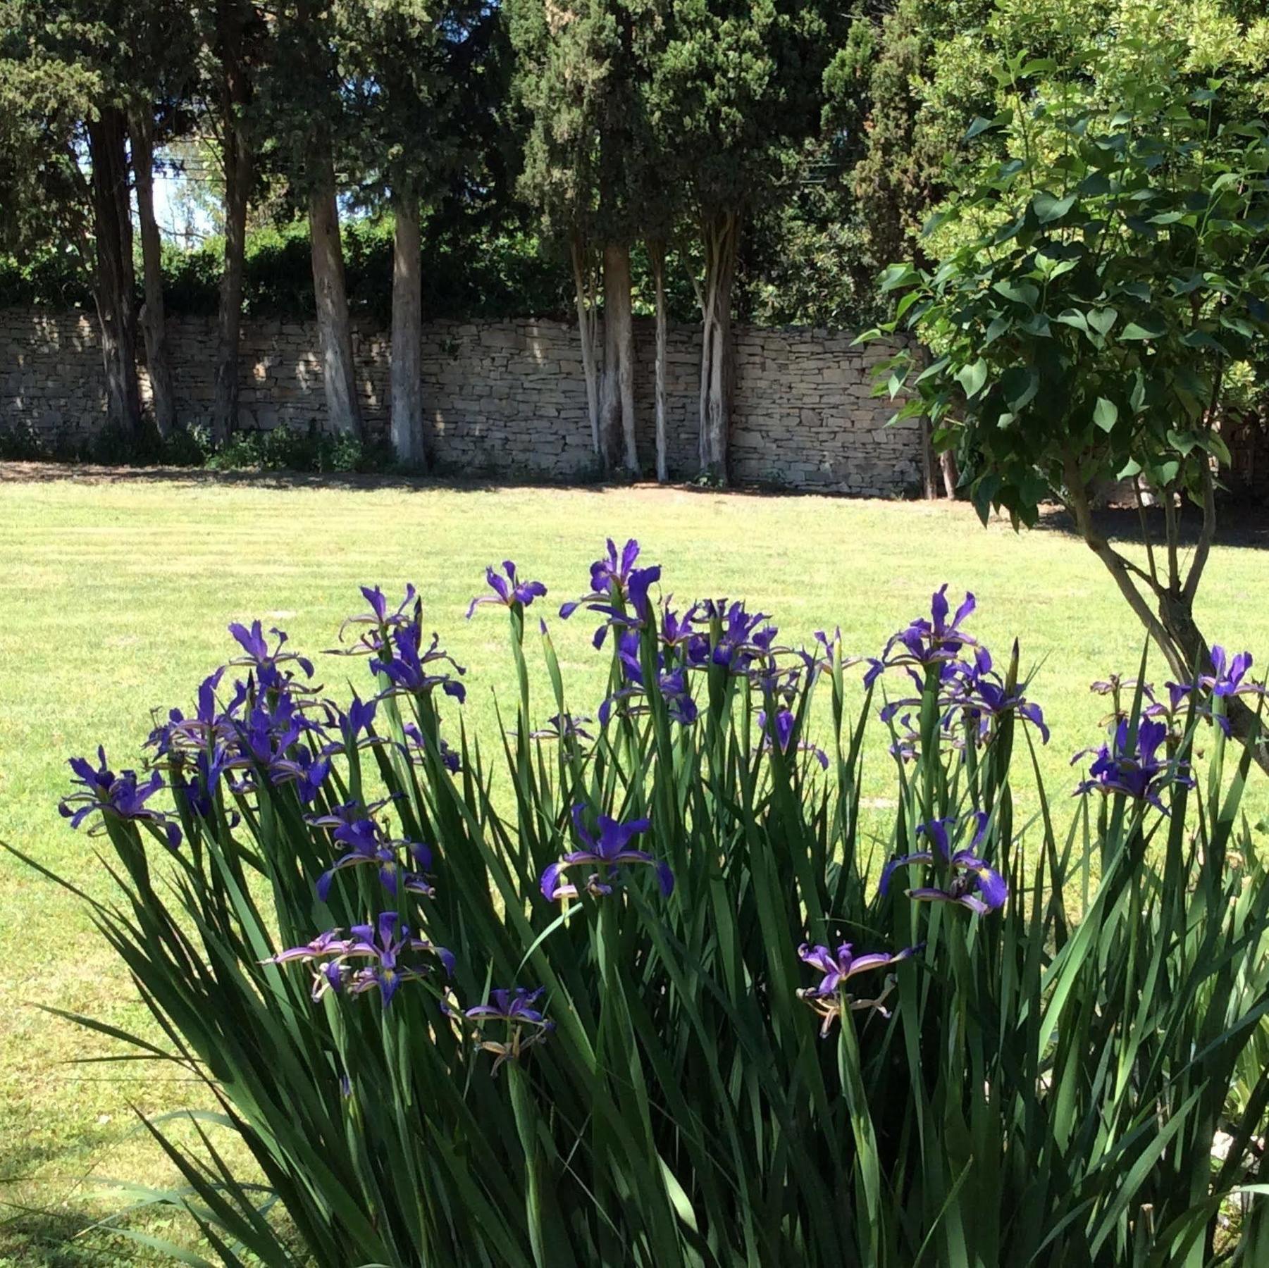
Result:
<svg viewBox="0 0 1269 1268">
<path fill-rule="evenodd" d="M 241 0 L 216 5 L 216 53 L 220 60 L 221 159 L 225 168 L 225 259 L 216 319 L 216 386 L 212 439 L 223 444 L 237 430 L 239 333 L 242 325 L 242 269 L 246 255 L 246 208 L 253 155 L 245 110 L 251 100 L 245 24 L 250 10 Z"/>
</svg>

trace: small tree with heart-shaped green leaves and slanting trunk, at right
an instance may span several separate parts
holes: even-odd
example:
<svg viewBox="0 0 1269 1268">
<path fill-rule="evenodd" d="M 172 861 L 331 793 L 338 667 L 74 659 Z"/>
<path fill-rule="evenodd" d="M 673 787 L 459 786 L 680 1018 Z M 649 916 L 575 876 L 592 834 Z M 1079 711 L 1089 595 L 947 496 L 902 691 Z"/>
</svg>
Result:
<svg viewBox="0 0 1269 1268">
<path fill-rule="evenodd" d="M 915 376 L 900 357 L 892 391 L 916 388 L 901 413 L 928 411 L 983 518 L 1032 524 L 1060 500 L 1187 683 L 1209 669 L 1194 599 L 1228 461 L 1226 385 L 1269 340 L 1269 133 L 1247 110 L 1245 65 L 1212 65 L 1181 6 L 1164 13 L 1134 25 L 1121 11 L 1115 42 L 1086 48 L 1077 74 L 997 61 L 1000 108 L 970 132 L 1003 157 L 926 227 L 937 267 L 893 265 L 883 284 L 900 297 L 886 329 L 935 357 Z M 1109 480 L 1131 481 L 1142 508 L 1142 558 L 1093 514 Z M 1157 543 L 1147 501 L 1162 508 Z M 1202 514 L 1188 561 L 1185 501 Z M 1250 734 L 1240 699 L 1228 712 Z"/>
</svg>

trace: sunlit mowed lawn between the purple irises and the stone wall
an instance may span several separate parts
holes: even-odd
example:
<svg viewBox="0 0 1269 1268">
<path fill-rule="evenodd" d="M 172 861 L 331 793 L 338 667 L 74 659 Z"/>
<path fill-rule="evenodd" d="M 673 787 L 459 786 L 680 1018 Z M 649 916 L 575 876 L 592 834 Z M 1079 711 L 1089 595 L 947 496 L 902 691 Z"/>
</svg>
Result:
<svg viewBox="0 0 1269 1268">
<path fill-rule="evenodd" d="M 94 842 L 70 831 L 56 809 L 67 755 L 100 743 L 115 767 L 136 764 L 151 711 L 188 706 L 202 677 L 232 654 L 230 621 L 261 617 L 317 652 L 360 607 L 359 583 L 390 594 L 407 580 L 419 586 L 428 628 L 468 666 L 463 718 L 491 753 L 495 702 L 514 708 L 506 624 L 490 609 L 463 619 L 490 562 L 514 558 L 549 586 L 533 614 L 551 619 L 579 712 L 598 706 L 607 660 L 590 647 L 585 614 L 561 622 L 555 612 L 586 588 L 607 536 L 637 537 L 679 600 L 745 597 L 775 617 L 782 641 L 840 624 L 858 652 L 879 650 L 950 581 L 954 599 L 976 593 L 973 630 L 997 659 L 1016 635 L 1024 666 L 1038 666 L 1030 694 L 1053 729 L 1042 765 L 1063 817 L 1077 778 L 1070 755 L 1098 741 L 1107 708 L 1089 683 L 1134 671 L 1141 655 L 1138 626 L 1079 541 L 1053 527 L 1023 536 L 1003 523 L 983 529 L 962 505 L 643 487 L 70 477 L 22 467 L 0 476 L 0 838 L 94 894 L 108 892 Z M 1212 637 L 1258 659 L 1269 654 L 1266 580 L 1264 550 L 1218 546 L 1200 603 Z M 316 659 L 332 694 L 346 696 L 349 678 L 364 690 L 363 661 Z M 543 717 L 553 712 L 546 693 L 537 699 Z M 452 734 L 456 713 L 449 704 Z M 879 838 L 893 778 L 877 735 L 867 792 Z M 1028 802 L 1034 809 L 1025 789 L 1022 801 L 1024 812 Z M 1266 806 L 1266 781 L 1256 776 L 1254 817 Z M 178 1109 L 194 1089 L 165 1081 L 162 1069 L 67 1064 L 110 1045 L 33 1005 L 129 1028 L 146 1018 L 84 910 L 8 855 L 0 963 L 0 1264 L 137 1262 L 138 1251 L 96 1232 L 67 1239 L 124 1205 L 102 1192 L 104 1178 L 171 1183 L 133 1107 Z M 146 1227 L 161 1234 L 161 1224 Z"/>
</svg>

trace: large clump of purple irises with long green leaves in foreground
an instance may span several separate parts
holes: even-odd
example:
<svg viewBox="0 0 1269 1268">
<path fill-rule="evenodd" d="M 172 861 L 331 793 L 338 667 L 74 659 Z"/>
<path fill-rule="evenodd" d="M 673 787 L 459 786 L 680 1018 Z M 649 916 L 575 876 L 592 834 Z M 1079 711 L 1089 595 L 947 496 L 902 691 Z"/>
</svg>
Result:
<svg viewBox="0 0 1269 1268">
<path fill-rule="evenodd" d="M 609 543 L 561 609 L 612 649 L 594 722 L 508 564 L 468 609 L 509 622 L 496 756 L 412 588 L 376 588 L 340 649 L 369 699 L 231 626 L 148 777 L 72 763 L 63 812 L 122 886 L 81 897 L 166 1036 L 132 1043 L 203 1080 L 263 1173 L 151 1125 L 189 1185 L 164 1199 L 225 1263 L 1265 1262 L 1259 1205 L 1217 1241 L 1263 1191 L 1269 1104 L 1269 886 L 1247 753 L 1225 767 L 1249 661 L 1166 698 L 1098 684 L 1110 734 L 1058 835 L 1043 791 L 1015 819 L 1015 750 L 1047 730 L 972 597 L 867 664 L 851 718 L 839 636 L 792 651 L 741 603 L 659 607 L 637 555 Z"/>
</svg>

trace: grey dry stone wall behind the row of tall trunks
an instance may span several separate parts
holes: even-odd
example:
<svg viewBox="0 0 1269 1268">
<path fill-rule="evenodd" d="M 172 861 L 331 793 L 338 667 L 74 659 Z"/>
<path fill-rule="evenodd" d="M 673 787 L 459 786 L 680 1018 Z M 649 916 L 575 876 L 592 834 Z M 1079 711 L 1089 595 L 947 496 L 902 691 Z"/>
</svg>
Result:
<svg viewBox="0 0 1269 1268">
<path fill-rule="evenodd" d="M 892 409 L 871 395 L 884 352 L 851 347 L 849 333 L 736 329 L 732 475 L 737 481 L 873 496 L 920 480 L 920 432 L 887 426 Z M 178 410 L 187 423 L 212 407 L 211 319 L 170 322 Z M 388 341 L 354 333 L 367 425 L 387 428 Z M 650 321 L 636 322 L 640 452 L 654 458 Z M 671 326 L 667 440 L 671 475 L 695 473 L 699 331 Z M 242 325 L 241 421 L 247 428 L 322 425 L 317 333 L 311 322 Z M 581 350 L 557 321 L 433 321 L 423 331 L 429 452 L 439 468 L 472 475 L 569 480 L 594 471 Z M 142 369 L 142 393 L 147 391 Z M 0 428 L 46 440 L 90 433 L 104 414 L 96 326 L 88 314 L 0 310 Z"/>
</svg>

